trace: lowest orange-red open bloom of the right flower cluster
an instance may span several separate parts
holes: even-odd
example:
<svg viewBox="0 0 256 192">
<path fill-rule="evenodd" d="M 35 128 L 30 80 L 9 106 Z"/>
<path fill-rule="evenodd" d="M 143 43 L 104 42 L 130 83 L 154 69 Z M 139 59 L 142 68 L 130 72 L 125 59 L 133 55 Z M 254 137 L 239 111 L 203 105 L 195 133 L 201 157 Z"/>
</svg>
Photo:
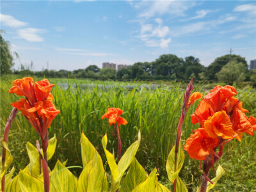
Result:
<svg viewBox="0 0 256 192">
<path fill-rule="evenodd" d="M 199 128 L 190 135 L 184 145 L 184 150 L 188 151 L 189 157 L 204 160 L 206 156 L 211 154 L 212 148 L 217 147 L 218 144 L 218 138 L 211 138 L 204 128 Z"/>
</svg>

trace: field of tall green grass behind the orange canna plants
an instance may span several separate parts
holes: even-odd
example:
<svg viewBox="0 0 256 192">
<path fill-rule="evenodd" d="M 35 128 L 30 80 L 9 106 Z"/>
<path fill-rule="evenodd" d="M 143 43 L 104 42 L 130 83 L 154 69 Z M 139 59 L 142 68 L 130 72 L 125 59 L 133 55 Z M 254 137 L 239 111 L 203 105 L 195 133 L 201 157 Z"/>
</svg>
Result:
<svg viewBox="0 0 256 192">
<path fill-rule="evenodd" d="M 1 77 L 1 138 L 6 120 L 12 110 L 10 103 L 19 100 L 17 95 L 8 93 L 14 79 L 17 77 Z M 49 80 L 56 84 L 52 89 L 53 102 L 56 108 L 61 111 L 49 129 L 49 138 L 56 134 L 58 139 L 56 153 L 49 161 L 50 168 L 54 167 L 57 159 L 61 161 L 68 159 L 67 166 L 81 166 L 79 140 L 82 132 L 95 145 L 105 162 L 101 138 L 106 132 L 108 133 L 109 149 L 115 148 L 115 142 L 111 136 L 113 128 L 108 125 L 108 120 L 102 120 L 100 117 L 108 108 L 115 107 L 124 110 L 122 116 L 128 122 L 127 125 L 120 127 L 123 149 L 126 150 L 136 140 L 138 129 L 140 129 L 141 145 L 136 158 L 148 173 L 156 166 L 159 180 L 170 187 L 165 163 L 175 142 L 186 84 L 175 82 L 166 84 L 120 83 L 81 79 Z M 213 86 L 213 84 L 196 84 L 194 92 L 202 92 L 205 95 L 206 90 Z M 250 111 L 248 115 L 256 116 L 255 89 L 250 87 L 237 89 L 237 98 L 240 98 L 244 108 Z M 191 129 L 198 127 L 198 125 L 191 123 L 189 116 L 195 111 L 197 105 L 198 102 L 188 110 L 184 120 L 182 127 L 183 145 L 191 134 Z M 35 144 L 35 140 L 38 139 L 33 127 L 18 112 L 8 140 L 14 158 L 13 164 L 17 168 L 16 172 L 29 163 L 26 143 L 29 141 Z M 256 191 L 255 144 L 256 136 L 244 134 L 241 142 L 233 140 L 225 146 L 225 153 L 219 163 L 226 172 L 214 188 L 215 191 Z M 122 151 L 124 152 L 124 150 Z M 80 169 L 72 169 L 71 171 L 75 175 L 79 175 L 81 172 Z M 200 177 L 199 161 L 190 159 L 187 152 L 185 152 L 185 162 L 180 177 L 186 183 L 189 191 L 195 191 Z M 212 177 L 214 177 L 214 173 L 211 172 L 210 178 Z"/>
</svg>

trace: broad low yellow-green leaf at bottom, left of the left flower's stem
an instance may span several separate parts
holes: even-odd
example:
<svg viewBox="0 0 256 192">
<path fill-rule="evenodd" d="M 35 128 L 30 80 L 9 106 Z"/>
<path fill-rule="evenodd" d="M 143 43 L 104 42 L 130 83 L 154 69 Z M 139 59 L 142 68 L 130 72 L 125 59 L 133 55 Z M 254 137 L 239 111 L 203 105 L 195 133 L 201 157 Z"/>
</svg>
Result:
<svg viewBox="0 0 256 192">
<path fill-rule="evenodd" d="M 18 182 L 22 192 L 44 192 L 44 183 L 22 170 L 19 172 Z"/>
</svg>

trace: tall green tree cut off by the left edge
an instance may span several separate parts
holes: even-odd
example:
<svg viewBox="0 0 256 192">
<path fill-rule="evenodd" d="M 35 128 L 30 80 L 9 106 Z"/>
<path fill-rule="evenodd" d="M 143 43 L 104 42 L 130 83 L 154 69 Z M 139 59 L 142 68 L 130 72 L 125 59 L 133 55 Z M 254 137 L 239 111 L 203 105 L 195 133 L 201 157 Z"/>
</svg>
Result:
<svg viewBox="0 0 256 192">
<path fill-rule="evenodd" d="M 11 72 L 11 67 L 14 65 L 13 54 L 10 46 L 10 42 L 4 40 L 2 34 L 3 30 L 0 31 L 0 47 L 1 47 L 1 63 L 0 70 L 1 74 L 6 74 Z M 14 52 L 15 56 L 18 57 L 17 52 Z"/>
</svg>

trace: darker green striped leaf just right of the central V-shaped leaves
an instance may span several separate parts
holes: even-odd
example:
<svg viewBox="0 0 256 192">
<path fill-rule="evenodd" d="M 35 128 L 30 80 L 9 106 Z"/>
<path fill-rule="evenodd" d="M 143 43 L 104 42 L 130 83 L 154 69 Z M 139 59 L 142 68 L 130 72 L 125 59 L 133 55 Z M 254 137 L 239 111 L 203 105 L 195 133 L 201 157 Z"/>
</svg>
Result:
<svg viewBox="0 0 256 192">
<path fill-rule="evenodd" d="M 145 179 L 147 179 L 147 173 L 145 172 L 143 166 L 141 166 L 134 157 L 129 171 L 122 182 L 121 192 L 132 191 L 132 189 L 138 186 L 138 184 L 143 182 Z"/>
</svg>

